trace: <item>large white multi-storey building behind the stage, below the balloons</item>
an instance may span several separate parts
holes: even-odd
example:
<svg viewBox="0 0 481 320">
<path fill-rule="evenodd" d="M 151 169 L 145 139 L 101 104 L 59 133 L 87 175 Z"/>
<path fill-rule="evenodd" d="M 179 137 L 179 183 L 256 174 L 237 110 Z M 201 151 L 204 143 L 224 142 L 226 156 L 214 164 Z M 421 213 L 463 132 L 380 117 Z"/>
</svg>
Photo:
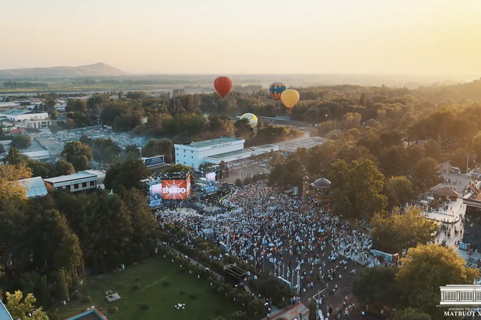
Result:
<svg viewBox="0 0 481 320">
<path fill-rule="evenodd" d="M 175 164 L 198 169 L 206 157 L 243 150 L 244 139 L 221 137 L 211 140 L 175 144 Z"/>
</svg>

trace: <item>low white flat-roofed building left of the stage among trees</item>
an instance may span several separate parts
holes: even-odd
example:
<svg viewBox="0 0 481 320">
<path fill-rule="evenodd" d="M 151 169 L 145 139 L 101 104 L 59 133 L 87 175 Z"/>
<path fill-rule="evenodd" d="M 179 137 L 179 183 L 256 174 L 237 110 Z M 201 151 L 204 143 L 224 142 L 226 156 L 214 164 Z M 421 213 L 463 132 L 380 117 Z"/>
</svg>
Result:
<svg viewBox="0 0 481 320">
<path fill-rule="evenodd" d="M 97 187 L 97 175 L 77 172 L 66 176 L 43 179 L 48 191 L 67 189 L 71 192 L 85 191 Z"/>
</svg>

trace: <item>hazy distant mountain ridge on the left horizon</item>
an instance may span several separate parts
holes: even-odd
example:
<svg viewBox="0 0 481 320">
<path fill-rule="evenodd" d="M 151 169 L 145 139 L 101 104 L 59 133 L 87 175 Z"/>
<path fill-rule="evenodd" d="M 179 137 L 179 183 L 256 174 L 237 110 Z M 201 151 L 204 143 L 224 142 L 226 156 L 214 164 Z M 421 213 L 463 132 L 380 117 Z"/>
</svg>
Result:
<svg viewBox="0 0 481 320">
<path fill-rule="evenodd" d="M 86 77 L 86 76 L 122 76 L 121 71 L 108 64 L 88 64 L 87 66 L 52 66 L 50 68 L 6 69 L 0 70 L 0 77 Z"/>
</svg>

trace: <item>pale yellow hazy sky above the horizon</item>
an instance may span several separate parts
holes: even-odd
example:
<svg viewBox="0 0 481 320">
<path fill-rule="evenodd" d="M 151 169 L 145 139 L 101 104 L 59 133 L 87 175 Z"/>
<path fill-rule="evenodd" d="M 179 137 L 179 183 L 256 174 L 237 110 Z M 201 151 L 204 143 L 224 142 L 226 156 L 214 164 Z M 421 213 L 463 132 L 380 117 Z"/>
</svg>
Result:
<svg viewBox="0 0 481 320">
<path fill-rule="evenodd" d="M 0 69 L 481 76 L 481 0 L 6 0 Z"/>
</svg>

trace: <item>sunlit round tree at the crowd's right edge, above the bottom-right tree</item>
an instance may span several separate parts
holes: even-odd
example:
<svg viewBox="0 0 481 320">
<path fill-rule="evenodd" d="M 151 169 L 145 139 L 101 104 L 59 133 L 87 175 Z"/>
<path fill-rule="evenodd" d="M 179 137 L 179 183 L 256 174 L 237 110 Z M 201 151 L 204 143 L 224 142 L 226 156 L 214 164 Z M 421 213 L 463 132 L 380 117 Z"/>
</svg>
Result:
<svg viewBox="0 0 481 320">
<path fill-rule="evenodd" d="M 399 209 L 390 215 L 376 213 L 371 219 L 373 248 L 402 254 L 403 249 L 432 241 L 437 229 L 434 220 L 425 218 L 415 207 L 407 208 L 405 213 L 400 213 Z"/>
</svg>

